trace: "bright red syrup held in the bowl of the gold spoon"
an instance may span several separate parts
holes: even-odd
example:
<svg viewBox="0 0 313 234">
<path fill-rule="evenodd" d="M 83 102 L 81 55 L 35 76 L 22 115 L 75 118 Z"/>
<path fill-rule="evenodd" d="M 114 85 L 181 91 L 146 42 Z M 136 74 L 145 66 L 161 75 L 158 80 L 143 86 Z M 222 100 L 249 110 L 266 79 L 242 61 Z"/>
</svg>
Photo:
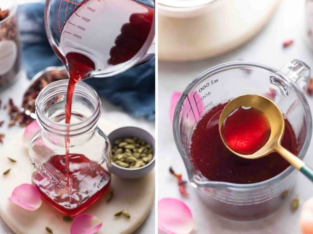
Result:
<svg viewBox="0 0 313 234">
<path fill-rule="evenodd" d="M 254 154 L 268 141 L 271 126 L 264 112 L 254 107 L 239 107 L 225 118 L 221 134 L 233 151 Z"/>
</svg>

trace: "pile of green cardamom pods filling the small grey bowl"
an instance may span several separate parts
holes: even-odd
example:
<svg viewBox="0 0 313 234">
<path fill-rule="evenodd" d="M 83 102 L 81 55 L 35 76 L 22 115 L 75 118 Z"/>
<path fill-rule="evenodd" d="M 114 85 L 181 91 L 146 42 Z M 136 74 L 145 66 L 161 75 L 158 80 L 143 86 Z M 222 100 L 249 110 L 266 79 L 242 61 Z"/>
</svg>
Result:
<svg viewBox="0 0 313 234">
<path fill-rule="evenodd" d="M 112 147 L 112 162 L 120 167 L 140 168 L 153 158 L 151 144 L 137 137 L 118 138 Z"/>
</svg>

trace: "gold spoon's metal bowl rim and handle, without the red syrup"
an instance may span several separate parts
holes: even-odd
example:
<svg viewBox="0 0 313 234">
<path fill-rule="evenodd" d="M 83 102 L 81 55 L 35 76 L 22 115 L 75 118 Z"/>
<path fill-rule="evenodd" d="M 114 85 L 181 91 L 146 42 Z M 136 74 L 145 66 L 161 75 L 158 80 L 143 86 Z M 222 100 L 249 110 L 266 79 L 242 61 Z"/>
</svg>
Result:
<svg viewBox="0 0 313 234">
<path fill-rule="evenodd" d="M 240 106 L 254 107 L 260 111 L 263 111 L 269 120 L 271 126 L 271 133 L 266 144 L 253 154 L 239 154 L 228 147 L 221 134 L 221 128 L 225 118 L 231 114 L 234 110 Z M 231 100 L 223 109 L 222 114 L 218 123 L 219 134 L 221 135 L 224 145 L 233 154 L 247 159 L 255 159 L 264 157 L 270 153 L 277 152 L 283 158 L 285 158 L 291 165 L 296 169 L 300 170 L 305 176 L 307 176 L 311 181 L 313 181 L 313 170 L 306 165 L 300 158 L 289 152 L 287 149 L 281 146 L 281 140 L 284 136 L 285 131 L 285 120 L 278 106 L 268 98 L 256 95 L 247 94 L 239 96 Z M 266 165 L 265 165 L 266 166 Z"/>
</svg>

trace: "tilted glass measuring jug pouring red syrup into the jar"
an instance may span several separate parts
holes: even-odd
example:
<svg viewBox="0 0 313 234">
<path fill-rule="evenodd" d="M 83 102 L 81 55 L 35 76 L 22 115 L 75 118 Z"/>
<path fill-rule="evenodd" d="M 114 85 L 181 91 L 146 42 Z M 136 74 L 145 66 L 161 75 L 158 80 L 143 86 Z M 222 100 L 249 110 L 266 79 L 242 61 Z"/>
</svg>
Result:
<svg viewBox="0 0 313 234">
<path fill-rule="evenodd" d="M 85 78 L 113 76 L 154 58 L 152 0 L 47 0 L 44 17 L 49 43 L 65 66 L 92 63 Z"/>
</svg>

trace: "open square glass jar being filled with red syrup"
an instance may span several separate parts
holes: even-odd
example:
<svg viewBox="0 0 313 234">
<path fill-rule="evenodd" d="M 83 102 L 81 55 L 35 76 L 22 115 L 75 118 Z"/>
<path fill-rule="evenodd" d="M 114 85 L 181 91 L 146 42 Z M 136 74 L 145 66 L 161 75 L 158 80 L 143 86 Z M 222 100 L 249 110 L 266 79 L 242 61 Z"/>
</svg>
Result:
<svg viewBox="0 0 313 234">
<path fill-rule="evenodd" d="M 41 128 L 28 151 L 33 184 L 57 210 L 74 216 L 110 185 L 110 141 L 97 126 L 99 96 L 84 82 L 78 82 L 74 91 L 72 122 L 64 124 L 67 85 L 68 80 L 56 81 L 38 95 L 36 119 Z M 70 140 L 68 157 L 64 139 Z"/>
</svg>

